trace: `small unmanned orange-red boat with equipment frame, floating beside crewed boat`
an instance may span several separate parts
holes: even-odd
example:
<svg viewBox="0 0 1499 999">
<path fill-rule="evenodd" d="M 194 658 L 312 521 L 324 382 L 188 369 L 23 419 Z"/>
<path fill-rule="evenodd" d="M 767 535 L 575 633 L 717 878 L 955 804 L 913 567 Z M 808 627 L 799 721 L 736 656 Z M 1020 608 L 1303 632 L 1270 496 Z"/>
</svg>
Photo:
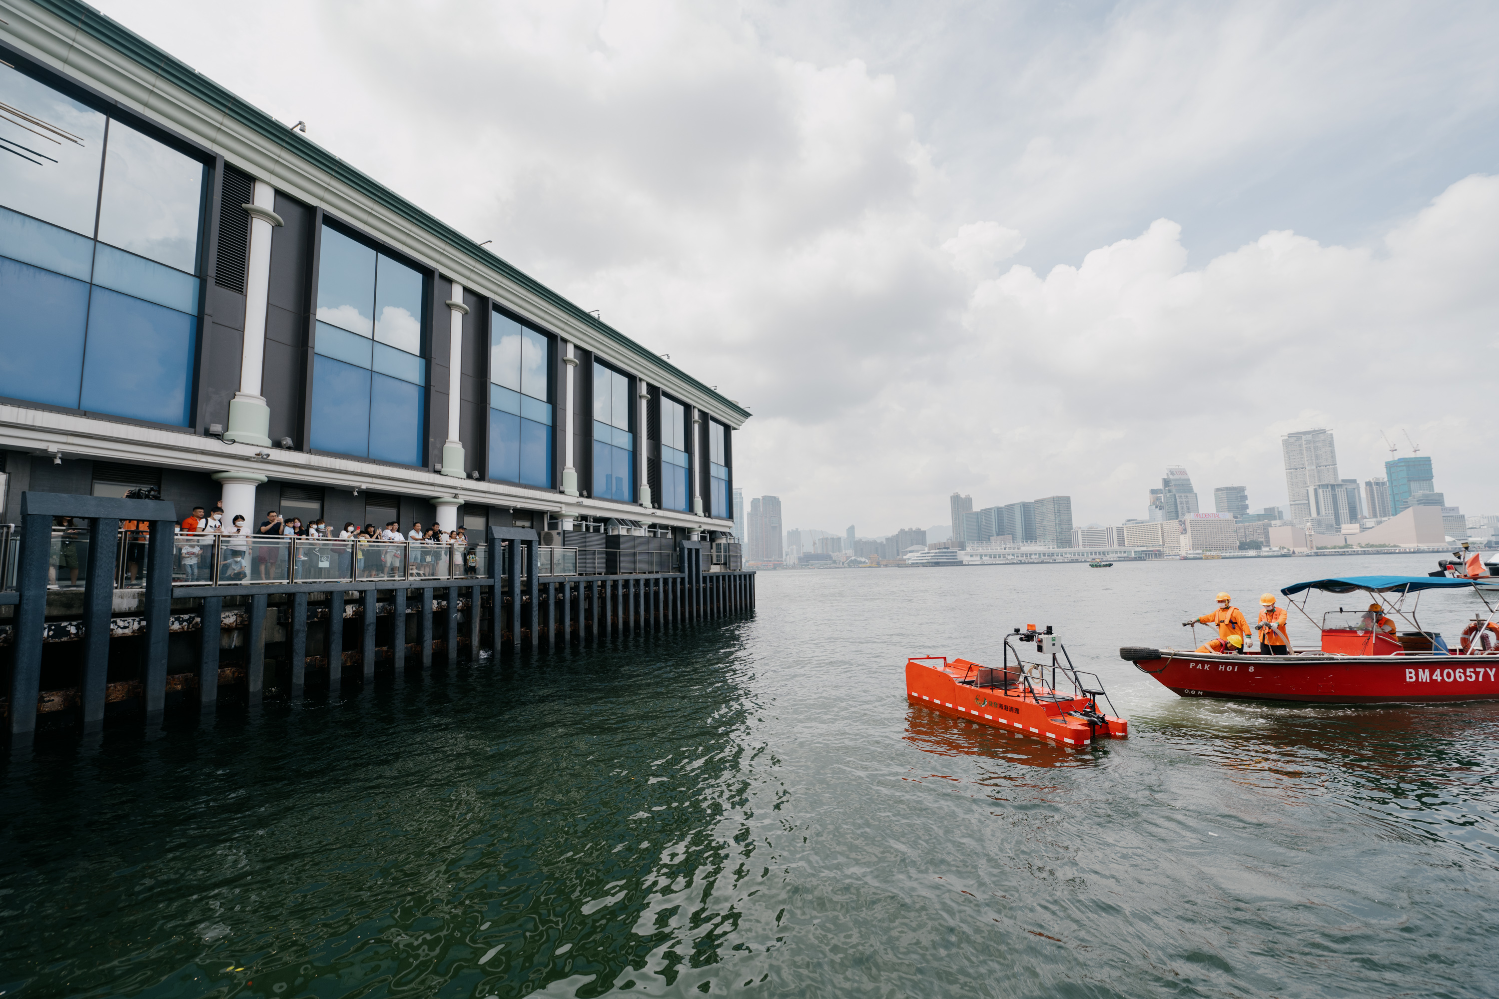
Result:
<svg viewBox="0 0 1499 999">
<path fill-rule="evenodd" d="M 1036 649 L 1031 662 L 1022 661 L 1012 640 Z M 1000 668 L 947 656 L 905 661 L 905 699 L 911 704 L 1064 746 L 1129 735 L 1129 722 L 1103 714 L 1099 698 L 1114 710 L 1099 678 L 1073 669 L 1067 650 L 1049 626 L 1039 632 L 1027 625 L 1027 631 L 1016 628 L 1006 635 Z"/>
</svg>

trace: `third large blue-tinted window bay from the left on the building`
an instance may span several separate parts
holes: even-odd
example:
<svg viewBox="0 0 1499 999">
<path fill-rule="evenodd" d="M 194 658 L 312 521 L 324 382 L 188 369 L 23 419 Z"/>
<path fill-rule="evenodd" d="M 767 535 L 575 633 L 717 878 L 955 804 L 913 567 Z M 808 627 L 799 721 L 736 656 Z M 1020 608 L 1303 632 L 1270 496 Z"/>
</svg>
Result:
<svg viewBox="0 0 1499 999">
<path fill-rule="evenodd" d="M 550 337 L 495 312 L 489 331 L 489 478 L 552 488 Z"/>
</svg>

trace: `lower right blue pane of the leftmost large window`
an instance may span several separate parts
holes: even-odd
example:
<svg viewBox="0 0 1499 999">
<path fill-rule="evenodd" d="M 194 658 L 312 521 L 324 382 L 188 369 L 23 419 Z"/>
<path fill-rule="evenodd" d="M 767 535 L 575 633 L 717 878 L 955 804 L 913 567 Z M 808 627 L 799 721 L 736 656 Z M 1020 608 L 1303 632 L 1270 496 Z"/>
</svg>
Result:
<svg viewBox="0 0 1499 999">
<path fill-rule="evenodd" d="M 198 321 L 94 288 L 81 409 L 186 427 Z"/>
</svg>

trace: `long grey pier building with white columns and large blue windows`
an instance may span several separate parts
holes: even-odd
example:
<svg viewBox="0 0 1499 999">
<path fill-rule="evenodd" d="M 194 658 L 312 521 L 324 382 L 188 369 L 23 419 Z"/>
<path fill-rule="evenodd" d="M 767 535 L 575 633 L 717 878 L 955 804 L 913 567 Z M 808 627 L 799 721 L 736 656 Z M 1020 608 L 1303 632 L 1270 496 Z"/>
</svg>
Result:
<svg viewBox="0 0 1499 999">
<path fill-rule="evenodd" d="M 231 605 L 232 586 L 259 586 L 265 593 L 250 599 L 270 598 L 273 611 L 306 584 L 300 610 L 282 614 L 294 644 L 306 638 L 298 616 L 307 596 L 316 604 L 333 593 L 319 584 L 349 581 L 355 592 L 369 583 L 373 593 L 375 575 L 391 599 L 409 580 L 490 584 L 462 602 L 472 599 L 475 622 L 481 602 L 514 605 L 504 626 L 493 622 L 496 647 L 501 628 L 517 641 L 529 631 L 535 643 L 538 628 L 550 634 L 519 611 L 526 604 L 535 614 L 547 580 L 564 575 L 615 580 L 622 592 L 667 601 L 655 619 L 636 620 L 672 620 L 673 607 L 697 607 L 699 571 L 739 569 L 733 455 L 748 409 L 496 250 L 93 7 L 7 0 L 0 521 L 18 527 L 0 536 L 0 610 L 24 610 L 22 580 L 43 577 L 54 598 L 76 587 L 102 601 L 112 583 L 124 592 L 114 605 L 138 608 L 151 599 L 141 589 L 150 587 L 148 566 L 157 586 L 169 581 L 162 599 L 174 613 L 186 613 L 178 602 L 195 584 L 213 583 L 223 593 L 204 601 Z M 127 517 L 120 532 L 109 526 L 117 514 L 90 514 L 73 503 L 79 497 L 163 506 Z M 376 572 L 361 568 L 364 550 L 286 539 L 267 574 L 259 556 L 246 572 L 240 550 L 213 541 L 184 551 L 145 526 L 160 524 L 162 509 L 180 523 L 216 502 L 225 526 L 240 515 L 250 532 L 267 511 L 280 511 L 304 524 L 324 520 L 334 536 L 346 521 L 397 521 L 402 533 L 415 523 L 463 527 L 471 548 L 451 563 L 442 553 L 391 551 L 370 563 Z M 57 518 L 49 563 L 42 577 L 27 575 L 18 559 L 25 563 L 27 542 L 40 557 L 42 539 L 22 541 L 19 526 L 46 530 L 43 509 Z M 97 523 L 69 527 L 67 511 L 102 518 L 106 538 L 88 533 Z M 105 544 L 117 551 L 96 566 L 90 559 Z M 501 548 L 486 566 L 490 544 Z M 168 553 L 166 562 L 151 562 L 148 548 Z M 307 560 L 321 572 L 307 577 Z M 438 577 L 427 572 L 433 566 Z M 541 580 L 543 596 L 501 596 L 508 572 L 522 574 L 517 586 Z M 663 586 L 672 577 L 672 586 L 652 589 L 645 577 Z M 678 584 L 690 584 L 682 599 L 673 596 Z M 582 590 L 568 583 L 562 593 L 556 610 L 573 601 L 582 613 Z M 337 602 L 342 613 L 342 595 Z M 459 602 L 454 590 L 454 622 Z M 199 610 L 193 620 L 216 613 Z M 373 628 L 376 608 L 364 610 Z M 52 599 L 46 628 L 81 613 Z M 405 614 L 402 599 L 402 622 Z M 580 620 L 559 634 L 576 635 Z M 600 626 L 618 620 L 606 616 Z M 477 631 L 474 640 L 471 652 Z M 399 662 L 405 649 L 384 632 L 381 641 Z M 430 652 L 429 634 L 423 661 Z M 300 653 L 292 658 L 300 687 Z M 12 672 L 12 687 L 19 675 Z"/>
</svg>

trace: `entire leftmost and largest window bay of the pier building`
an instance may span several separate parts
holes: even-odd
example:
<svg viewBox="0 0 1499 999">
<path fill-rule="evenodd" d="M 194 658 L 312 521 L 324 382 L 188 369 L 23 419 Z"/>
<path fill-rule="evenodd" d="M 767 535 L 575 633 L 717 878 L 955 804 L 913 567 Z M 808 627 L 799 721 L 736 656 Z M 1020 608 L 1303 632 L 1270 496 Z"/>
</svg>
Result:
<svg viewBox="0 0 1499 999">
<path fill-rule="evenodd" d="M 0 392 L 187 425 L 205 166 L 7 66 L 0 103 Z"/>
</svg>

